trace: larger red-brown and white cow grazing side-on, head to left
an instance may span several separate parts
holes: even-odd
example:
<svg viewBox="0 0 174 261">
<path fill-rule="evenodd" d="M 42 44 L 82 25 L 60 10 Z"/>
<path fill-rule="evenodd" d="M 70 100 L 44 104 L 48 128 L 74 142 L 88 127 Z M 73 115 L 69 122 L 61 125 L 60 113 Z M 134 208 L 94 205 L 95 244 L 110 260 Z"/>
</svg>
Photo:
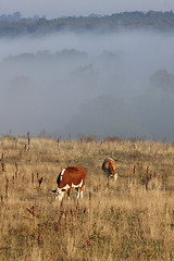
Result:
<svg viewBox="0 0 174 261">
<path fill-rule="evenodd" d="M 86 171 L 83 166 L 67 166 L 63 169 L 57 179 L 58 187 L 52 190 L 55 199 L 62 201 L 64 192 L 67 191 L 70 198 L 71 188 L 77 190 L 77 199 L 83 198 L 83 187 L 85 185 Z"/>
</svg>

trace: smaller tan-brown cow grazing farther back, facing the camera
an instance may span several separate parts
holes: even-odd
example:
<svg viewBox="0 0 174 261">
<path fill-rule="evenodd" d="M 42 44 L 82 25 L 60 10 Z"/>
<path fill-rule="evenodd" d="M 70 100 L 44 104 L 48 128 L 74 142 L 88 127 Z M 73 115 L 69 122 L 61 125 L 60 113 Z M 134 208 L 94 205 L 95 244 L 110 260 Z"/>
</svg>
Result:
<svg viewBox="0 0 174 261">
<path fill-rule="evenodd" d="M 102 163 L 102 170 L 107 174 L 108 179 L 110 177 L 114 177 L 114 179 L 117 179 L 117 173 L 115 173 L 116 163 L 111 158 L 105 158 L 105 160 Z"/>
</svg>

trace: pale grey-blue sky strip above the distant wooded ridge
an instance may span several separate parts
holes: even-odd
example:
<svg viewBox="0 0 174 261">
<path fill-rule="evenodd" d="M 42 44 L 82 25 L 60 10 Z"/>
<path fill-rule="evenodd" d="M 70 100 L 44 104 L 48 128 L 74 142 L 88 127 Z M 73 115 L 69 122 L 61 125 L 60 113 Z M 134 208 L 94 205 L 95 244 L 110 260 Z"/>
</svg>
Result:
<svg viewBox="0 0 174 261">
<path fill-rule="evenodd" d="M 47 18 L 60 16 L 86 16 L 112 14 L 124 11 L 171 11 L 174 0 L 0 0 L 0 13 L 12 14 L 20 11 L 22 16 L 34 14 Z"/>
</svg>

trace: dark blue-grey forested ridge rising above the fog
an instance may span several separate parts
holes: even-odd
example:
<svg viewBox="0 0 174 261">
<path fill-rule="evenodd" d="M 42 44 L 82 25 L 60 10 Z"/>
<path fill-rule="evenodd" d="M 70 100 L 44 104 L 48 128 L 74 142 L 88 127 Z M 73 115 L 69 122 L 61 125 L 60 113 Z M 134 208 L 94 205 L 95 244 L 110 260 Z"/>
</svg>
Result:
<svg viewBox="0 0 174 261">
<path fill-rule="evenodd" d="M 26 34 L 48 34 L 60 30 L 116 32 L 119 29 L 174 30 L 174 12 L 122 12 L 112 15 L 69 16 L 47 20 L 44 15 L 22 18 L 21 13 L 0 15 L 0 37 Z"/>
</svg>

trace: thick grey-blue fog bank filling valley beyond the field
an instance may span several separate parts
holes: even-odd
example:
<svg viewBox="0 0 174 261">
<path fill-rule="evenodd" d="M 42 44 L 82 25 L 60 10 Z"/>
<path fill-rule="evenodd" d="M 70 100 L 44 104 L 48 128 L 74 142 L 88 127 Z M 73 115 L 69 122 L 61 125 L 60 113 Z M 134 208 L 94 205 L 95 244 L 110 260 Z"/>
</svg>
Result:
<svg viewBox="0 0 174 261">
<path fill-rule="evenodd" d="M 174 139 L 174 35 L 0 39 L 0 134 Z"/>
</svg>

